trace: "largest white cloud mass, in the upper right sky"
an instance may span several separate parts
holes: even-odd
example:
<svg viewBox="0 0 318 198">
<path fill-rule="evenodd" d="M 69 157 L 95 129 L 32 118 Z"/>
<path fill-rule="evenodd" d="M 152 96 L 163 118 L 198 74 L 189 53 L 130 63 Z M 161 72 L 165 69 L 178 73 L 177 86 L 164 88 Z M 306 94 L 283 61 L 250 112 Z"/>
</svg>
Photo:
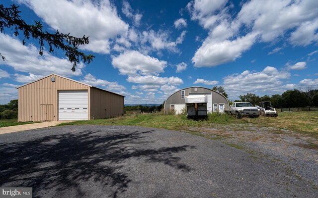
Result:
<svg viewBox="0 0 318 198">
<path fill-rule="evenodd" d="M 317 0 L 249 0 L 233 14 L 228 0 L 192 0 L 187 5 L 191 20 L 209 31 L 192 62 L 195 67 L 217 66 L 235 61 L 255 43 L 282 38 L 294 46 L 317 43 L 317 7 Z"/>
</svg>

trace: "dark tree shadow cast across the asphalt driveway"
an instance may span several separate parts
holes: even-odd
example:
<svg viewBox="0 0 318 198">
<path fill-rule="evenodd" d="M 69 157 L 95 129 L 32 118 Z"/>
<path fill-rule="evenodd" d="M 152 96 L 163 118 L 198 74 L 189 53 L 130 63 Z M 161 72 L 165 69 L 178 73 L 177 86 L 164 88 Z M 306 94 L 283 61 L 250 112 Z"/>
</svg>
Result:
<svg viewBox="0 0 318 198">
<path fill-rule="evenodd" d="M 51 135 L 25 142 L 0 144 L 0 186 L 33 187 L 37 192 L 72 190 L 75 197 L 85 197 L 82 183 L 99 183 L 112 189 L 117 197 L 132 182 L 127 161 L 144 160 L 164 163 L 180 171 L 191 168 L 180 162 L 174 153 L 194 146 L 147 147 L 147 133 L 107 133 L 86 130 L 80 133 Z M 156 144 L 156 143 L 153 143 Z M 127 170 L 126 170 L 127 169 Z"/>
</svg>

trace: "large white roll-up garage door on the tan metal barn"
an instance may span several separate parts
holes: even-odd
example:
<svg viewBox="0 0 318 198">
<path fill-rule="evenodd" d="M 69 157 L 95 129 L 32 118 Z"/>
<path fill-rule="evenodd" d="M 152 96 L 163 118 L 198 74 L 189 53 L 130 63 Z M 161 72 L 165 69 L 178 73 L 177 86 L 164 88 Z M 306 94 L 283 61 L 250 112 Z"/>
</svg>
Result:
<svg viewBox="0 0 318 198">
<path fill-rule="evenodd" d="M 88 120 L 87 90 L 59 91 L 59 120 Z"/>
</svg>

